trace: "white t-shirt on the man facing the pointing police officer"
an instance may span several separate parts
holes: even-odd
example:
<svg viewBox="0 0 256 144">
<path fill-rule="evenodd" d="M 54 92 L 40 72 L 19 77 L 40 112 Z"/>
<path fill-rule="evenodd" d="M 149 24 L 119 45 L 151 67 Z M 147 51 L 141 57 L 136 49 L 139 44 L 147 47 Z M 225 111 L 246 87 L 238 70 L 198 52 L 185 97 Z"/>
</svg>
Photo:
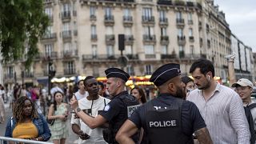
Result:
<svg viewBox="0 0 256 144">
<path fill-rule="evenodd" d="M 106 103 L 104 102 L 104 99 Z M 102 96 L 99 96 L 99 98 L 94 101 L 88 100 L 87 98 L 82 98 L 78 100 L 78 106 L 81 110 L 90 109 L 92 107 L 90 115 L 96 117 L 98 115 L 98 110 L 103 110 L 106 104 L 108 104 L 109 102 L 110 99 L 103 98 Z M 78 124 L 79 122 L 81 123 L 80 129 L 84 133 L 90 135 L 90 138 L 87 140 L 82 140 L 81 138 L 79 138 L 78 144 L 106 143 L 102 135 L 102 128 L 95 128 L 94 130 L 92 130 L 89 126 L 82 122 L 81 119 L 74 119 L 74 114 L 72 114 L 70 123 Z"/>
</svg>

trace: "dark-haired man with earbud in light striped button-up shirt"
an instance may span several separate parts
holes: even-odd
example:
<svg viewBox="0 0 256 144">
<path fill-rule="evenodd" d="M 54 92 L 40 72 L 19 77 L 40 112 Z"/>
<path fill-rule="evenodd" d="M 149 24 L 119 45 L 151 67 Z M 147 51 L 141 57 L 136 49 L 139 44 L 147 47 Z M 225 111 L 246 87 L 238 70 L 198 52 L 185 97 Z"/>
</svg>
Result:
<svg viewBox="0 0 256 144">
<path fill-rule="evenodd" d="M 198 89 L 187 100 L 194 102 L 206 122 L 214 144 L 249 144 L 250 130 L 238 94 L 214 80 L 214 65 L 200 58 L 190 67 Z"/>
</svg>

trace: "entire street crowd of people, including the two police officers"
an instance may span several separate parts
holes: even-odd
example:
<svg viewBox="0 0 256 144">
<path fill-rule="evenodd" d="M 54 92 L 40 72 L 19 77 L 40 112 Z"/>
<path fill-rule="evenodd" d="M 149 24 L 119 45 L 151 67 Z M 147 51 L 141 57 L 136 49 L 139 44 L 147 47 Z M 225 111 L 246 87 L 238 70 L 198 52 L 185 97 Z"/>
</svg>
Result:
<svg viewBox="0 0 256 144">
<path fill-rule="evenodd" d="M 181 75 L 179 64 L 159 67 L 150 78 L 152 90 L 127 89 L 130 75 L 121 69 L 105 73 L 106 84 L 93 76 L 78 81 L 77 90 L 54 84 L 46 116 L 40 110 L 46 90 L 17 86 L 5 136 L 64 144 L 71 126 L 83 144 L 255 143 L 256 104 L 250 97 L 254 84 L 241 78 L 231 87 L 221 85 L 207 59 L 192 64 L 192 77 Z M 2 122 L 6 118 L 0 110 Z"/>
</svg>

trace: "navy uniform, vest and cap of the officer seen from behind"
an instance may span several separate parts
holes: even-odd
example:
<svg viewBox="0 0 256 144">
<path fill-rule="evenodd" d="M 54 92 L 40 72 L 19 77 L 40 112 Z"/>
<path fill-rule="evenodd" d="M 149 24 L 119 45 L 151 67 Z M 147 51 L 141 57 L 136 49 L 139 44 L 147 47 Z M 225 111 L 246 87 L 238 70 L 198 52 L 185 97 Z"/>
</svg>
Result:
<svg viewBox="0 0 256 144">
<path fill-rule="evenodd" d="M 150 82 L 161 86 L 180 75 L 178 64 L 161 66 L 152 74 Z M 143 143 L 194 143 L 193 133 L 206 127 L 198 107 L 193 102 L 175 98 L 171 94 L 159 94 L 150 102 L 138 107 L 129 118 L 143 128 L 147 142 Z"/>
</svg>

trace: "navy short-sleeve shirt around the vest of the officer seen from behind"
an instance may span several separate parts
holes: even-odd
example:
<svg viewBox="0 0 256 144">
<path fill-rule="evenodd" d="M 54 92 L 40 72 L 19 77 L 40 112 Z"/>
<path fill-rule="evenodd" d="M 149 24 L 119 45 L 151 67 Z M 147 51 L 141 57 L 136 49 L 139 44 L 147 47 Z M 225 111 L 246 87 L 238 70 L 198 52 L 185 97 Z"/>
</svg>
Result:
<svg viewBox="0 0 256 144">
<path fill-rule="evenodd" d="M 168 106 L 168 103 L 174 101 L 174 97 L 170 94 L 160 94 L 158 99 L 153 99 L 150 102 L 153 102 L 153 106 L 157 106 L 158 108 L 164 108 Z M 166 103 L 164 103 L 166 102 Z M 143 127 L 146 130 L 146 115 L 145 115 L 145 108 L 146 105 L 150 103 L 147 102 L 146 104 L 138 107 L 137 110 L 129 118 L 130 121 L 134 122 L 134 124 L 139 128 Z M 206 123 L 204 122 L 198 107 L 195 106 L 193 102 L 184 101 L 182 103 L 182 131 L 184 134 L 192 135 L 195 130 L 199 130 L 203 127 L 206 127 Z"/>
</svg>

